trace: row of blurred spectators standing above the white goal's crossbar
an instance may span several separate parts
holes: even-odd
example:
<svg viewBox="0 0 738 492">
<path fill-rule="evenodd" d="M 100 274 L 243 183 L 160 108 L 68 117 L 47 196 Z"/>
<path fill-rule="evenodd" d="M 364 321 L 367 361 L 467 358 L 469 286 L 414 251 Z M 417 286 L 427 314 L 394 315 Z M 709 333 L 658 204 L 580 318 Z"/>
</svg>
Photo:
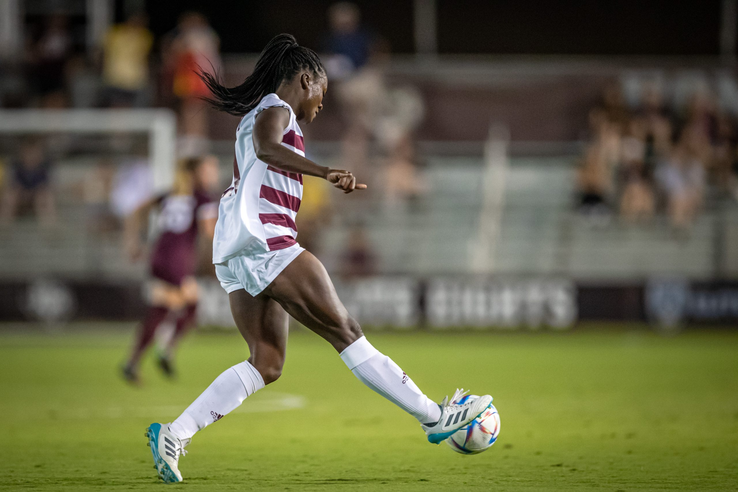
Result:
<svg viewBox="0 0 738 492">
<path fill-rule="evenodd" d="M 72 18 L 54 14 L 27 26 L 20 59 L 3 67 L 4 107 L 170 107 L 179 114 L 182 154 L 201 154 L 207 140 L 207 95 L 195 70 L 220 66 L 218 35 L 197 12 L 179 16 L 159 39 L 145 13 L 111 24 L 89 48 Z"/>
</svg>

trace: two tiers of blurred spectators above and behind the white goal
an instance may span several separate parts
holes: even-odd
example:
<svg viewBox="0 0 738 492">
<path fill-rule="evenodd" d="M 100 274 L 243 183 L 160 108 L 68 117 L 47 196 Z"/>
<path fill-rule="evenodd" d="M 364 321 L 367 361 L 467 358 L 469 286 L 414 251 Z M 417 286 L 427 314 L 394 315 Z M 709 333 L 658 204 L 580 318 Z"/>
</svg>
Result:
<svg viewBox="0 0 738 492">
<path fill-rule="evenodd" d="M 197 12 L 182 13 L 175 29 L 159 39 L 147 24 L 145 13 L 132 13 L 111 24 L 91 48 L 75 16 L 28 18 L 20 56 L 0 65 L 0 106 L 169 107 L 179 115 L 177 157 L 206 154 L 207 112 L 201 96 L 207 90 L 195 69 L 219 68 L 218 35 Z M 98 162 L 69 190 L 86 205 L 88 222 L 98 232 L 119 229 L 125 214 L 152 192 L 146 143 L 125 133 L 106 138 L 106 144 L 96 148 Z M 40 134 L 4 142 L 0 225 L 27 214 L 35 215 L 41 225 L 55 224 L 60 193 L 55 163 L 65 153 L 74 153 L 70 140 L 69 135 Z"/>
</svg>

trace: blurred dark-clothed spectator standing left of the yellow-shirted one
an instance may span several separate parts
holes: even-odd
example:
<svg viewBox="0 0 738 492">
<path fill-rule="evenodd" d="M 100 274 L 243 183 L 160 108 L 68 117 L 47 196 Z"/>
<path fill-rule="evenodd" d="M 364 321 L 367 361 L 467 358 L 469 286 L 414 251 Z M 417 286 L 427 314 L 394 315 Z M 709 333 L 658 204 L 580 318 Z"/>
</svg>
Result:
<svg viewBox="0 0 738 492">
<path fill-rule="evenodd" d="M 64 69 L 72 55 L 72 36 L 66 16 L 46 19 L 38 41 L 31 44 L 28 59 L 32 66 L 33 85 L 45 107 L 64 106 Z"/>
</svg>

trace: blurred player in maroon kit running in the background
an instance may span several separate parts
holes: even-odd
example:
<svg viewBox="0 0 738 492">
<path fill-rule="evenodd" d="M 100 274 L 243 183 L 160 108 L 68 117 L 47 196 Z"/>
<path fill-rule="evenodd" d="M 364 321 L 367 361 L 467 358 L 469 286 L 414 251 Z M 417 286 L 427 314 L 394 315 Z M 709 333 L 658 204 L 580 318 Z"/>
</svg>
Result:
<svg viewBox="0 0 738 492">
<path fill-rule="evenodd" d="M 193 277 L 198 233 L 213 239 L 218 205 L 207 194 L 217 185 L 218 160 L 213 156 L 184 160 L 176 172 L 173 190 L 137 209 L 125 227 L 125 249 L 134 261 L 142 256 L 141 233 L 152 208 L 159 208 L 159 239 L 151 253 L 151 298 L 148 312 L 123 377 L 139 382 L 139 361 L 165 320 L 174 321 L 174 332 L 158 355 L 159 367 L 172 376 L 171 355 L 184 332 L 195 321 L 197 284 Z"/>
</svg>

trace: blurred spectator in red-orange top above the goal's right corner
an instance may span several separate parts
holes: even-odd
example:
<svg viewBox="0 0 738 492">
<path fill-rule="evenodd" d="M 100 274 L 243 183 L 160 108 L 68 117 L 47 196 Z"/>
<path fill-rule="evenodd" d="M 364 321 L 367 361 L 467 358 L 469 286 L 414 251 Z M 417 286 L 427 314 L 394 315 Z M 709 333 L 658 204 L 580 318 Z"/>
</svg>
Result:
<svg viewBox="0 0 738 492">
<path fill-rule="evenodd" d="M 184 13 L 179 18 L 177 33 L 170 45 L 170 71 L 173 74 L 173 95 L 179 100 L 181 156 L 193 156 L 207 151 L 207 86 L 197 72 L 211 71 L 220 66 L 220 40 L 201 13 Z"/>
</svg>

